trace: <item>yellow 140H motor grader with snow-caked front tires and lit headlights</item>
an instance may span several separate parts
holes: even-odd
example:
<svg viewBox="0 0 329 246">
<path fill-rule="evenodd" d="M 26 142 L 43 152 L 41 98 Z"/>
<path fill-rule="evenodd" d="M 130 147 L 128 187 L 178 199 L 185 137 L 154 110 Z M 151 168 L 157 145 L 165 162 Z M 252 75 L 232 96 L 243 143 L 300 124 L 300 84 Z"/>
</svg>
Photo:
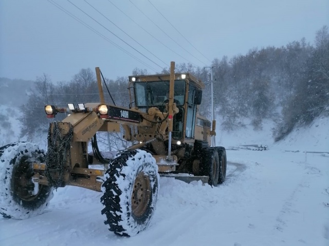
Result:
<svg viewBox="0 0 329 246">
<path fill-rule="evenodd" d="M 134 236 L 152 218 L 159 176 L 211 186 L 226 176 L 224 147 L 211 147 L 215 121 L 198 115 L 204 84 L 189 73 L 130 76 L 130 107 L 104 100 L 96 68 L 100 103 L 46 105 L 47 152 L 30 142 L 0 148 L 0 214 L 25 219 L 41 214 L 53 190 L 78 186 L 102 192 L 104 223 L 117 235 Z M 105 81 L 104 81 L 105 83 Z M 97 146 L 97 132 L 118 132 L 131 147 L 107 159 Z M 90 142 L 93 151 L 88 151 Z"/>
</svg>

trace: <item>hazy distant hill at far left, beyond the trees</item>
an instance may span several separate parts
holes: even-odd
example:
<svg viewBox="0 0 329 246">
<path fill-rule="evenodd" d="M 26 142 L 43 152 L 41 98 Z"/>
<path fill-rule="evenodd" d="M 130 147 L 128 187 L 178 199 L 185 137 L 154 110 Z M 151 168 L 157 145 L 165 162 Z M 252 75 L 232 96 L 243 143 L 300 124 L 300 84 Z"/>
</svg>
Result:
<svg viewBox="0 0 329 246">
<path fill-rule="evenodd" d="M 28 91 L 33 87 L 32 80 L 0 77 L 0 105 L 23 105 L 28 99 Z"/>
</svg>

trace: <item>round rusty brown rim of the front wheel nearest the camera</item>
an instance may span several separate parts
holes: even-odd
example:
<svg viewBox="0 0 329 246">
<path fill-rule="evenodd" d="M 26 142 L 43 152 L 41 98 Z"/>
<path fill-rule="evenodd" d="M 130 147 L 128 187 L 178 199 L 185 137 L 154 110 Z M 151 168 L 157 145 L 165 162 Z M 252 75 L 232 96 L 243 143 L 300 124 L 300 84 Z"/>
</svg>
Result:
<svg viewBox="0 0 329 246">
<path fill-rule="evenodd" d="M 132 211 L 136 217 L 142 217 L 149 206 L 151 198 L 150 177 L 140 172 L 134 183 L 132 194 Z"/>
</svg>

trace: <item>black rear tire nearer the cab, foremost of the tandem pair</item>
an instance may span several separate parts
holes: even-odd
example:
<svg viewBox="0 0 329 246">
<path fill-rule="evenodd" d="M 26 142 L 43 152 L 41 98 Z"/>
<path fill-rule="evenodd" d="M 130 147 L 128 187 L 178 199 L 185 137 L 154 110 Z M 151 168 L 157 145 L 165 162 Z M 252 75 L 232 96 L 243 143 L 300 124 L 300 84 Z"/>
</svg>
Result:
<svg viewBox="0 0 329 246">
<path fill-rule="evenodd" d="M 205 148 L 200 158 L 200 174 L 208 176 L 208 183 L 217 186 L 220 161 L 214 148 Z"/>
</svg>

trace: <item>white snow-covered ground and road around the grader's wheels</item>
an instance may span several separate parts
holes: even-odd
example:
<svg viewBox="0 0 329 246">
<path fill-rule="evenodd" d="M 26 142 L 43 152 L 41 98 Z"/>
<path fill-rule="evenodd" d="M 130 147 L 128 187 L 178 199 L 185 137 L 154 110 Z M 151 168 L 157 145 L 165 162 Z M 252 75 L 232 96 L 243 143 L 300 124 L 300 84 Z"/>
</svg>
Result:
<svg viewBox="0 0 329 246">
<path fill-rule="evenodd" d="M 160 178 L 150 227 L 135 237 L 103 224 L 100 193 L 60 188 L 46 212 L 26 220 L 0 218 L 0 245 L 329 245 L 329 118 L 273 143 L 272 125 L 221 132 L 227 179 L 212 188 Z M 221 133 L 220 133 L 221 132 Z M 242 145 L 267 145 L 266 151 Z M 306 152 L 305 152 L 306 151 Z M 328 189 L 329 191 L 329 189 Z"/>
</svg>

